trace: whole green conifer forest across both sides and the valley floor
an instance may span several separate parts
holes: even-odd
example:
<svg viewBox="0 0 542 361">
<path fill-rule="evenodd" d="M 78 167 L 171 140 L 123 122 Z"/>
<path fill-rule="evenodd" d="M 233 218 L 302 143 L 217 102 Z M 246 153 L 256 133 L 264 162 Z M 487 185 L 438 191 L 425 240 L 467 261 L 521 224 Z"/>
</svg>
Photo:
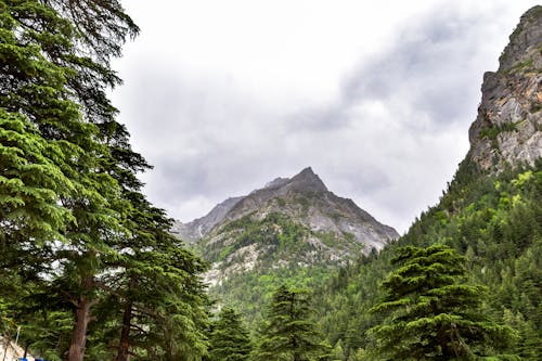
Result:
<svg viewBox="0 0 542 361">
<path fill-rule="evenodd" d="M 151 165 L 106 96 L 138 33 L 117 0 L 0 0 L 5 339 L 18 330 L 50 361 L 542 359 L 540 160 L 490 172 L 467 156 L 380 253 L 241 279 L 266 295 L 249 325 L 219 310 L 208 265 L 143 195 Z M 289 247 L 308 232 L 266 221 L 288 232 L 248 236 Z"/>
</svg>

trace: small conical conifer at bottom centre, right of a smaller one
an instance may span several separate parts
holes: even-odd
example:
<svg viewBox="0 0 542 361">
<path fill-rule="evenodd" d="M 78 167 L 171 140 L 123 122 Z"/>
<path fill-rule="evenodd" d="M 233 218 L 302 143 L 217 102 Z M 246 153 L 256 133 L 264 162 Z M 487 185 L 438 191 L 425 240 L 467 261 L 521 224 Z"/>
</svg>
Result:
<svg viewBox="0 0 542 361">
<path fill-rule="evenodd" d="M 330 347 L 311 320 L 309 296 L 305 291 L 279 287 L 262 326 L 257 360 L 313 361 L 327 357 Z"/>
</svg>

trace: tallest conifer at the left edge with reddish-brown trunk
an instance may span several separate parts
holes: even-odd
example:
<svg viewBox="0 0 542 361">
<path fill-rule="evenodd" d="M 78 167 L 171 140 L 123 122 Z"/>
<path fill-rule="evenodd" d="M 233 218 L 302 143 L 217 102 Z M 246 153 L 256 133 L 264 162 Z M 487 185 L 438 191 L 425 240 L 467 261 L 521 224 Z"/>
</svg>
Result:
<svg viewBox="0 0 542 361">
<path fill-rule="evenodd" d="M 2 0 L 0 10 L 0 223 L 10 250 L 1 265 L 11 273 L 21 273 L 14 260 L 23 271 L 42 265 L 26 274 L 53 280 L 48 297 L 56 289 L 74 307 L 69 360 L 82 360 L 103 292 L 96 275 L 130 232 L 121 168 L 146 166 L 134 153 L 127 160 L 128 137 L 105 94 L 120 82 L 109 59 L 138 28 L 115 0 Z"/>
</svg>

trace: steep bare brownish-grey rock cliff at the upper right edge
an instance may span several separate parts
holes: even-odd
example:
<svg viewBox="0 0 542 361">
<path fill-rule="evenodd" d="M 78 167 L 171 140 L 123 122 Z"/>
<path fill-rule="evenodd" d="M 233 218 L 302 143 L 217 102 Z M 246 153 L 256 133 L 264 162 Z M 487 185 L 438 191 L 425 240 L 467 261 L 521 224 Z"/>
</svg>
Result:
<svg viewBox="0 0 542 361">
<path fill-rule="evenodd" d="M 470 157 L 482 169 L 533 165 L 542 156 L 542 7 L 527 11 L 481 87 L 478 117 L 469 130 Z"/>
</svg>

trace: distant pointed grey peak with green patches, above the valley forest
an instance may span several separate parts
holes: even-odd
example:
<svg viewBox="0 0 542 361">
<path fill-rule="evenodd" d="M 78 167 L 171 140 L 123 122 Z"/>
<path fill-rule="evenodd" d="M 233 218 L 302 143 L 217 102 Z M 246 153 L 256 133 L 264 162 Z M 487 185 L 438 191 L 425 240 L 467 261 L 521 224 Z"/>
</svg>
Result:
<svg viewBox="0 0 542 361">
<path fill-rule="evenodd" d="M 212 262 L 210 283 L 255 267 L 339 265 L 399 236 L 351 199 L 330 192 L 311 168 L 229 198 L 172 231 Z"/>
</svg>

